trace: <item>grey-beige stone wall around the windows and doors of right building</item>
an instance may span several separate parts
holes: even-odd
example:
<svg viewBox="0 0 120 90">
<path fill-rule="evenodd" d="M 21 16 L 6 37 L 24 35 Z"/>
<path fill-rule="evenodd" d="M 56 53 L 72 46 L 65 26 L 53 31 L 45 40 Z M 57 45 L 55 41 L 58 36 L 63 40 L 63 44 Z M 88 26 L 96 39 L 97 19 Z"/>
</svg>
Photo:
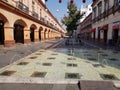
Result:
<svg viewBox="0 0 120 90">
<path fill-rule="evenodd" d="M 101 0 L 101 1 L 102 1 L 102 13 L 103 13 L 104 12 L 104 0 Z M 97 6 L 97 4 L 99 2 L 100 1 L 98 0 L 98 2 L 93 6 L 93 8 L 97 7 L 97 16 L 98 16 L 98 6 Z M 113 5 L 114 5 L 114 0 L 109 0 L 109 8 L 111 8 Z M 94 15 L 92 15 L 92 16 L 94 16 Z M 106 24 L 109 25 L 108 26 L 108 40 L 112 39 L 113 22 L 117 22 L 117 21 L 120 22 L 120 12 L 118 12 L 118 11 L 115 14 L 111 14 L 108 17 L 102 18 L 101 20 L 93 23 L 92 28 L 96 28 L 96 39 L 98 37 L 98 27 L 101 27 L 101 26 L 106 25 Z M 103 39 L 103 33 L 101 33 L 100 37 L 101 37 L 101 39 Z"/>
</svg>

